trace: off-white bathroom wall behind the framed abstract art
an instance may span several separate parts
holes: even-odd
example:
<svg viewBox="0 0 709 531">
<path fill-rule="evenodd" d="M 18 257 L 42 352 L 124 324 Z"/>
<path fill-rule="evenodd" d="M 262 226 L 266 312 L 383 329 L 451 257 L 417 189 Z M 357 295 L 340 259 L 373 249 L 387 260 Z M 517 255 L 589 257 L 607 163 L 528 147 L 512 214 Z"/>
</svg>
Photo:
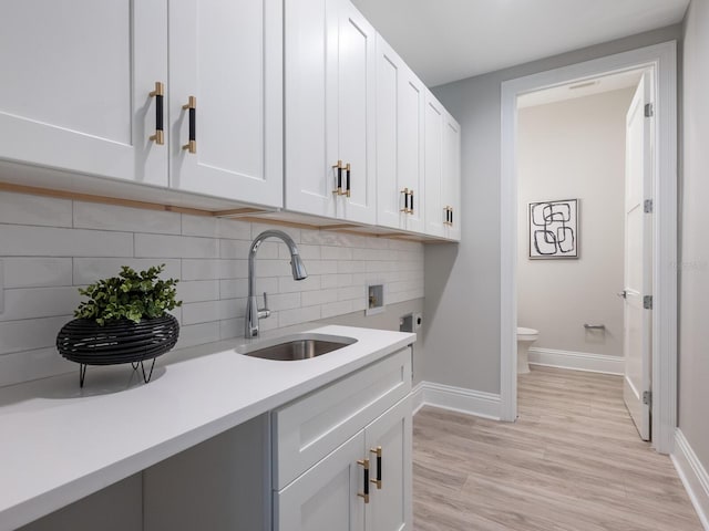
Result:
<svg viewBox="0 0 709 531">
<path fill-rule="evenodd" d="M 517 323 L 537 348 L 623 356 L 625 118 L 634 88 L 518 111 Z M 579 258 L 531 260 L 530 202 L 579 199 Z M 605 324 L 586 331 L 584 323 Z"/>
</svg>

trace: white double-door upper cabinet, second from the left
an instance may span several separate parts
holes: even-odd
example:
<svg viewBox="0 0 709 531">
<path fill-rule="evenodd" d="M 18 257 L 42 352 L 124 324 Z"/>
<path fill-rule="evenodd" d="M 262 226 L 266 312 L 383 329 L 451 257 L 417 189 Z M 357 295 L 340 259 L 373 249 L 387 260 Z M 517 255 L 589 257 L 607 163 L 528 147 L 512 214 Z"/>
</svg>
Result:
<svg viewBox="0 0 709 531">
<path fill-rule="evenodd" d="M 376 32 L 348 0 L 286 2 L 286 208 L 376 222 Z"/>
</svg>

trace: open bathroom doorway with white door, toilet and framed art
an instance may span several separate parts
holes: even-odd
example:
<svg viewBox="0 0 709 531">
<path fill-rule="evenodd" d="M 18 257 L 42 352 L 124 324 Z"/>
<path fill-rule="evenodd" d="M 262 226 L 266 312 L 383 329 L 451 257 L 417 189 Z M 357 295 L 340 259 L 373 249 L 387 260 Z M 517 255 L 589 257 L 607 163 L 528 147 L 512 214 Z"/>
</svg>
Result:
<svg viewBox="0 0 709 531">
<path fill-rule="evenodd" d="M 651 290 L 644 284 L 651 246 L 643 238 L 651 233 L 643 205 L 651 199 L 644 186 L 651 167 L 644 163 L 653 144 L 644 104 L 651 81 L 651 71 L 631 70 L 517 98 L 516 322 L 526 329 L 517 329 L 517 384 L 540 382 L 527 376 L 530 364 L 624 375 L 644 440 L 651 325 L 643 308 Z"/>
</svg>

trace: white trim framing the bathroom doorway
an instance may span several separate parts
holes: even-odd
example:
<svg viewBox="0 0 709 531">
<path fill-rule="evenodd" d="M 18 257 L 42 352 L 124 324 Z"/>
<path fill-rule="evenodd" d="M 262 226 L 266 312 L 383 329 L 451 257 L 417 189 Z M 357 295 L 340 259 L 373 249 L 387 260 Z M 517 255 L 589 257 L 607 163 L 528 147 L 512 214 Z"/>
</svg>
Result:
<svg viewBox="0 0 709 531">
<path fill-rule="evenodd" d="M 517 184 L 516 100 L 521 94 L 610 73 L 649 67 L 655 72 L 653 271 L 653 445 L 669 454 L 677 426 L 677 43 L 608 55 L 502 83 L 500 183 L 501 382 L 500 415 L 517 416 Z"/>
</svg>

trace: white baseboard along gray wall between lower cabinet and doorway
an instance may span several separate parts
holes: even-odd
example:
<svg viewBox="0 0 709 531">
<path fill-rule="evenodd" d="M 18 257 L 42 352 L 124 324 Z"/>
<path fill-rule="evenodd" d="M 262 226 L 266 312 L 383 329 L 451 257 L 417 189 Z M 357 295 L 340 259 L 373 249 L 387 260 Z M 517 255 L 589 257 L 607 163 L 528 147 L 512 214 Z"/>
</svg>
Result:
<svg viewBox="0 0 709 531">
<path fill-rule="evenodd" d="M 440 407 L 500 420 L 500 395 L 450 385 L 421 382 L 411 392 L 414 415 L 423 406 Z"/>
</svg>

